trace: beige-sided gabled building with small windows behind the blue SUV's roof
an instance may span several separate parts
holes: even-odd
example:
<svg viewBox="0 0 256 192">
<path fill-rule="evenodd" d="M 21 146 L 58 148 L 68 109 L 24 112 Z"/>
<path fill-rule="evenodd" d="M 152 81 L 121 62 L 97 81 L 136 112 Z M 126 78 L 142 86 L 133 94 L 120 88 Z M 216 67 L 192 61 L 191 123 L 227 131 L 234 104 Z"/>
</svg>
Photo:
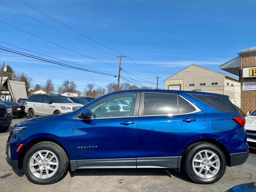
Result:
<svg viewBox="0 0 256 192">
<path fill-rule="evenodd" d="M 240 107 L 240 82 L 227 74 L 191 64 L 164 81 L 167 90 L 200 89 L 202 92 L 225 94 L 233 104 Z"/>
</svg>

